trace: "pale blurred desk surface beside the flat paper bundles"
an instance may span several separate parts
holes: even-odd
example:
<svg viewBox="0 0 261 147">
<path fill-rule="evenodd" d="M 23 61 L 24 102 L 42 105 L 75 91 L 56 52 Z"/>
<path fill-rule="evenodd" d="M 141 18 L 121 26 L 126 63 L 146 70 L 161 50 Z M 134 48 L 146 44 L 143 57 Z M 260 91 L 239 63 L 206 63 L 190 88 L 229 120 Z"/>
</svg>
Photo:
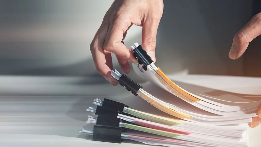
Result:
<svg viewBox="0 0 261 147">
<path fill-rule="evenodd" d="M 79 77 L 0 76 L 0 146 L 148 146 L 123 140 L 121 144 L 95 142 L 78 132 L 87 126 L 94 98 L 124 101 L 136 109 L 143 99 L 120 86 L 84 83 Z M 134 103 L 135 101 L 135 103 Z M 261 125 L 250 129 L 250 147 L 261 145 Z"/>
</svg>

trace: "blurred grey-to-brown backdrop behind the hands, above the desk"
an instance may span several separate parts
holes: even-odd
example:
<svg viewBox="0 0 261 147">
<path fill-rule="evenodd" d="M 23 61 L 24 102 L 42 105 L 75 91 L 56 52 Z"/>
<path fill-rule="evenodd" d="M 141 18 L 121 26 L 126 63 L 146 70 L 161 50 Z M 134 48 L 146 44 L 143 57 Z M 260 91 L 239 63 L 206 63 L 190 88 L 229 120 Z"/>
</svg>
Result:
<svg viewBox="0 0 261 147">
<path fill-rule="evenodd" d="M 95 69 L 89 46 L 112 2 L 0 1 L 0 75 L 106 82 Z M 260 36 L 239 60 L 228 57 L 234 34 L 260 10 L 256 0 L 164 1 L 156 65 L 167 74 L 261 76 Z M 141 43 L 141 30 L 133 25 L 127 32 L 128 48 Z"/>
</svg>

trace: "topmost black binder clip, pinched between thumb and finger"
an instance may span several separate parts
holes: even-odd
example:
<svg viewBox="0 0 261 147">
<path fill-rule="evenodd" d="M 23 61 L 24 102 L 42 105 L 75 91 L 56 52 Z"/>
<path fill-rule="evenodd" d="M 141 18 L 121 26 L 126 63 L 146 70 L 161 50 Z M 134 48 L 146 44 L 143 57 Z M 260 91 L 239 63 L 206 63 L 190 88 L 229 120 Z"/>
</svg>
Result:
<svg viewBox="0 0 261 147">
<path fill-rule="evenodd" d="M 147 66 L 149 64 L 153 63 L 153 60 L 147 54 L 147 52 L 143 49 L 143 47 L 141 45 L 139 45 L 138 43 L 134 43 L 134 45 L 131 46 L 131 51 L 133 53 L 133 56 L 138 60 L 137 67 L 139 68 L 139 70 L 142 73 L 144 73 L 143 70 L 146 71 Z"/>
</svg>

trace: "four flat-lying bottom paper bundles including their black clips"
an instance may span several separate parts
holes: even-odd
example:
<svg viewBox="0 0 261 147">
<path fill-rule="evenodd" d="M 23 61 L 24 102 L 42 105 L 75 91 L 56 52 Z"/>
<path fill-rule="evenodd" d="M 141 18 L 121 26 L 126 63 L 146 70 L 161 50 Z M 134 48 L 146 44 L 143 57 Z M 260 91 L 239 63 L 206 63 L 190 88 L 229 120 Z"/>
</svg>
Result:
<svg viewBox="0 0 261 147">
<path fill-rule="evenodd" d="M 114 107 L 118 102 L 113 104 L 114 102 L 109 99 L 104 99 L 104 102 L 98 98 L 94 99 L 93 104 L 98 105 L 97 108 L 86 109 L 98 115 L 88 116 L 87 123 L 96 124 L 94 130 L 80 132 L 93 135 L 93 140 L 115 143 L 120 143 L 121 139 L 130 139 L 163 146 L 247 146 L 246 123 L 227 126 L 206 125 L 145 113 L 128 108 L 124 104 L 122 106 L 125 107 L 121 111 L 119 107 Z M 106 107 L 108 104 L 115 109 Z M 102 127 L 102 131 L 97 127 Z M 127 128 L 127 131 L 121 131 L 120 128 Z M 112 133 L 115 129 L 119 130 L 117 134 Z M 114 138 L 111 138 L 112 136 Z"/>
</svg>

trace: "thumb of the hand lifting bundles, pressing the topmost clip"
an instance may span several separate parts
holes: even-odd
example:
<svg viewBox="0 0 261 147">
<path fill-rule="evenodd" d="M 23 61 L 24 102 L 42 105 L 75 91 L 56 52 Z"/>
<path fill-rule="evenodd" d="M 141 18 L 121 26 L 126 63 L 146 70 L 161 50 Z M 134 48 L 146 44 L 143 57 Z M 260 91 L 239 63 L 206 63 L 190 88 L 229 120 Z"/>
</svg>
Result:
<svg viewBox="0 0 261 147">
<path fill-rule="evenodd" d="M 142 28 L 142 42 L 144 50 L 149 54 L 152 60 L 156 61 L 155 48 L 156 48 L 156 36 L 161 17 L 147 18 L 143 22 Z"/>
</svg>

